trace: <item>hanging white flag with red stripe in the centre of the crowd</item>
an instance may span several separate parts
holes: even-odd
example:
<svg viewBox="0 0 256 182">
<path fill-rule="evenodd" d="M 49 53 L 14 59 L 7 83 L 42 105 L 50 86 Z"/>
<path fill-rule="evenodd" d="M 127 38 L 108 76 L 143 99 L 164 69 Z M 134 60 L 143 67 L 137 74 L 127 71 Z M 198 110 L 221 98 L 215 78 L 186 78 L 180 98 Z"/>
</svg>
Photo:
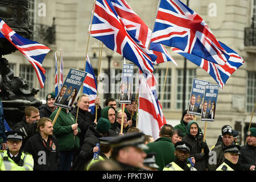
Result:
<svg viewBox="0 0 256 182">
<path fill-rule="evenodd" d="M 145 74 L 140 75 L 139 86 L 139 110 L 138 110 L 138 129 L 144 134 L 151 135 L 154 140 L 159 138 L 161 127 L 166 124 L 159 102 L 156 101 L 151 89 L 155 89 L 154 76 Z M 153 87 L 153 88 L 152 88 Z M 160 109 L 160 110 L 159 110 Z M 161 115 L 162 114 L 162 115 Z"/>
</svg>

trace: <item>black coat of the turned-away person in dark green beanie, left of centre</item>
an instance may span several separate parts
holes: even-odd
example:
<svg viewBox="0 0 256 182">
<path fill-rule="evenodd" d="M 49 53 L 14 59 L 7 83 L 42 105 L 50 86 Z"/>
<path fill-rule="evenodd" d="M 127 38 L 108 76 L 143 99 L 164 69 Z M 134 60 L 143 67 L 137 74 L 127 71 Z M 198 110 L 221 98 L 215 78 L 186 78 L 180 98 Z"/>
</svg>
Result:
<svg viewBox="0 0 256 182">
<path fill-rule="evenodd" d="M 93 159 L 93 147 L 96 146 L 96 143 L 100 143 L 99 138 L 101 137 L 102 135 L 96 130 L 96 127 L 89 127 L 86 131 L 80 154 L 73 164 L 73 170 L 84 170 L 84 167 Z"/>
</svg>

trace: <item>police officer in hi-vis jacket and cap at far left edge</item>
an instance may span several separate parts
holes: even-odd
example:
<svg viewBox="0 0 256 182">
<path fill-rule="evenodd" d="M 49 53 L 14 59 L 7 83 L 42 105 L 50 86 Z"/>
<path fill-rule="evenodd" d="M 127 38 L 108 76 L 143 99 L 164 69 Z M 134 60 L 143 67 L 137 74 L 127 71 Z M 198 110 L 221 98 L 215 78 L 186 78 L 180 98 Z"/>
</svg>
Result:
<svg viewBox="0 0 256 182">
<path fill-rule="evenodd" d="M 33 171 L 32 155 L 20 150 L 24 133 L 7 131 L 6 136 L 8 149 L 0 151 L 0 171 Z"/>
</svg>

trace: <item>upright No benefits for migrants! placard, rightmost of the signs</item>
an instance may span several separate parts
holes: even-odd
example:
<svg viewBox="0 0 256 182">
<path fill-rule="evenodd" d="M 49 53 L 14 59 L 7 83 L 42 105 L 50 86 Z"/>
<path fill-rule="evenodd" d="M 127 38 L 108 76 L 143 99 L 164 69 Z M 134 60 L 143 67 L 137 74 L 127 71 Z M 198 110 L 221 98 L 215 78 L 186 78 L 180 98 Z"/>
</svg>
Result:
<svg viewBox="0 0 256 182">
<path fill-rule="evenodd" d="M 205 85 L 204 101 L 201 113 L 201 121 L 214 122 L 218 97 L 218 85 Z"/>
</svg>

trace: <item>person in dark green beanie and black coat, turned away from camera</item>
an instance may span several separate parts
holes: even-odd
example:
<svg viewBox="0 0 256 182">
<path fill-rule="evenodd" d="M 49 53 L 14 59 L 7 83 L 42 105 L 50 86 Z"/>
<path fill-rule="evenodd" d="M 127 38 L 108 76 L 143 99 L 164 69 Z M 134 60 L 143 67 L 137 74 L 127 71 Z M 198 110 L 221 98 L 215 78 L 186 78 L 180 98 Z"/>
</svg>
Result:
<svg viewBox="0 0 256 182">
<path fill-rule="evenodd" d="M 105 118 L 98 119 L 96 127 L 89 127 L 89 129 L 86 131 L 80 154 L 77 156 L 77 159 L 73 164 L 73 170 L 84 170 L 84 166 L 93 159 L 94 152 L 99 151 L 99 148 L 96 147 L 96 144 L 100 143 L 99 138 L 109 137 L 110 128 L 110 122 Z"/>
</svg>

